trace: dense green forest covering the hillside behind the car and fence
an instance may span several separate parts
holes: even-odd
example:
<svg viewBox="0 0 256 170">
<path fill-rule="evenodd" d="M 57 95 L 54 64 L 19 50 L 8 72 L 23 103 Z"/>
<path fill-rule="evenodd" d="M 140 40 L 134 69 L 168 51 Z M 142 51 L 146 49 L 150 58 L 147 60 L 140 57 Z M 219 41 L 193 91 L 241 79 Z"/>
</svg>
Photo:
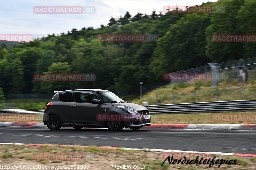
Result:
<svg viewBox="0 0 256 170">
<path fill-rule="evenodd" d="M 216 43 L 212 34 L 255 34 L 255 0 L 219 0 L 225 13 L 156 14 L 127 11 L 107 26 L 73 29 L 41 40 L 0 48 L 4 94 L 52 94 L 54 90 L 100 88 L 136 91 L 162 82 L 163 73 L 255 57 L 256 43 Z M 98 34 L 157 34 L 156 42 L 101 42 Z M 94 73 L 95 81 L 38 82 L 35 73 Z"/>
</svg>

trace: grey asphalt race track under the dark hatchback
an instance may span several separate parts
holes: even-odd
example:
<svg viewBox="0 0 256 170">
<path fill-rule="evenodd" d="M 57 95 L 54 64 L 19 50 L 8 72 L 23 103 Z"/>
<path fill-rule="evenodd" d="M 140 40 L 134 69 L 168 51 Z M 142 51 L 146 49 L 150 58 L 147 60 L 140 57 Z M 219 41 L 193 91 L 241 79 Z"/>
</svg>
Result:
<svg viewBox="0 0 256 170">
<path fill-rule="evenodd" d="M 256 154 L 255 131 L 0 127 L 0 143 L 71 144 Z"/>
</svg>

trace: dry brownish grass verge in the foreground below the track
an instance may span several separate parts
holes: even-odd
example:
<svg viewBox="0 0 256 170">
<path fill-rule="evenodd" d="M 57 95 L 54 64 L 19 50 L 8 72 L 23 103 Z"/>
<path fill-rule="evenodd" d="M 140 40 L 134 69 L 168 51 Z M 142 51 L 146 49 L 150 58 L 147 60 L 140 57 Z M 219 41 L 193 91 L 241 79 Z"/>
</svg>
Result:
<svg viewBox="0 0 256 170">
<path fill-rule="evenodd" d="M 82 154 L 82 160 L 35 160 L 33 155 L 40 153 L 50 154 Z M 16 166 L 58 166 L 58 165 L 89 165 L 89 169 L 110 169 L 111 165 L 145 165 L 145 169 L 207 169 L 209 165 L 172 165 L 168 161 L 163 163 L 167 155 L 177 155 L 177 153 L 166 152 L 148 152 L 148 151 L 134 151 L 121 149 L 103 149 L 103 148 L 82 148 L 82 147 L 63 147 L 63 146 L 27 146 L 27 145 L 0 145 L 0 164 Z M 184 155 L 188 155 L 183 153 Z M 198 155 L 204 157 L 203 155 Z M 255 169 L 255 157 L 237 157 L 237 156 L 216 156 L 216 159 L 236 159 L 235 165 L 220 166 L 221 169 Z M 182 157 L 182 156 L 179 156 Z M 187 156 L 188 157 L 188 156 Z M 195 155 L 191 155 L 194 159 Z M 191 158 L 191 159 L 193 159 Z M 142 166 L 143 167 L 143 166 Z M 211 169 L 220 169 L 218 165 L 214 165 Z M 133 168 L 132 168 L 133 169 Z"/>
</svg>

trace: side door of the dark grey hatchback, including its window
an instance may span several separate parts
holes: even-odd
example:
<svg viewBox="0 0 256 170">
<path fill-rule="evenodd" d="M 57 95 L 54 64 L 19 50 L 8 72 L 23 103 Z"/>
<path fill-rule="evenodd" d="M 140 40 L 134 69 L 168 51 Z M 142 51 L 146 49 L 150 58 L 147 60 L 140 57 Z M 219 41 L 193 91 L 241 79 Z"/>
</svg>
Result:
<svg viewBox="0 0 256 170">
<path fill-rule="evenodd" d="M 75 92 L 75 101 L 70 105 L 73 123 L 104 124 L 96 120 L 97 114 L 103 113 L 103 104 L 94 104 L 93 99 L 99 99 L 93 92 Z"/>
</svg>

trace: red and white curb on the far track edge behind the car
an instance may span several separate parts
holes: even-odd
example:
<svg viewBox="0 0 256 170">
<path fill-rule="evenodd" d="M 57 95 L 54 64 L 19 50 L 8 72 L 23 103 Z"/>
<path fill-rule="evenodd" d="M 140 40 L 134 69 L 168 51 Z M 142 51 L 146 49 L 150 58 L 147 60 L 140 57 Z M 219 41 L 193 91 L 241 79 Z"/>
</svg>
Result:
<svg viewBox="0 0 256 170">
<path fill-rule="evenodd" d="M 0 126 L 9 127 L 34 127 L 46 128 L 44 123 L 36 122 L 0 122 Z M 153 124 L 144 126 L 141 129 L 159 129 L 159 130 L 256 130 L 256 124 Z"/>
</svg>

